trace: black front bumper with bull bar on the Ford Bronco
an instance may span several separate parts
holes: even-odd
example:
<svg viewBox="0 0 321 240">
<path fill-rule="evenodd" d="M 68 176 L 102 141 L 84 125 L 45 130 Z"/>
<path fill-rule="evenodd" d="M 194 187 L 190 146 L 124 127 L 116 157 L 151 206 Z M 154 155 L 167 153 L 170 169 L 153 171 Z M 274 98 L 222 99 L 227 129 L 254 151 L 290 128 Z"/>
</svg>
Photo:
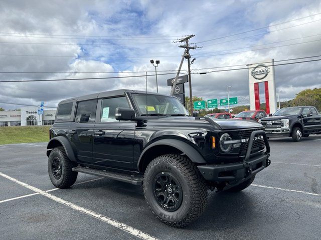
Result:
<svg viewBox="0 0 321 240">
<path fill-rule="evenodd" d="M 250 158 L 253 139 L 255 135 L 262 134 L 266 151 L 259 155 Z M 228 163 L 228 164 L 210 164 L 198 165 L 203 177 L 212 182 L 227 182 L 229 184 L 236 184 L 249 178 L 251 175 L 258 173 L 267 167 L 271 161 L 268 159 L 270 156 L 270 145 L 263 130 L 253 131 L 251 133 L 246 155 L 242 162 Z"/>
</svg>

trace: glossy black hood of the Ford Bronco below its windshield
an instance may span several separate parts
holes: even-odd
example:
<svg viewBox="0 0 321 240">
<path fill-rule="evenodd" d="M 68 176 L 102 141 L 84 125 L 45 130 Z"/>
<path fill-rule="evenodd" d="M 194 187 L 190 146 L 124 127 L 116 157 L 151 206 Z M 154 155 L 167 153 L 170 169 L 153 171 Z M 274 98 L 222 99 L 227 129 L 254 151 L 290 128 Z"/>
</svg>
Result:
<svg viewBox="0 0 321 240">
<path fill-rule="evenodd" d="M 147 118 L 147 124 L 149 123 L 161 123 L 169 124 L 170 126 L 189 126 L 189 127 L 204 127 L 217 126 L 220 129 L 243 129 L 243 128 L 257 128 L 263 127 L 260 123 L 253 120 L 235 120 L 231 119 L 219 119 L 219 118 L 208 118 L 205 120 L 203 117 L 192 117 L 192 116 L 172 116 L 172 117 L 161 117 L 157 119 Z"/>
</svg>

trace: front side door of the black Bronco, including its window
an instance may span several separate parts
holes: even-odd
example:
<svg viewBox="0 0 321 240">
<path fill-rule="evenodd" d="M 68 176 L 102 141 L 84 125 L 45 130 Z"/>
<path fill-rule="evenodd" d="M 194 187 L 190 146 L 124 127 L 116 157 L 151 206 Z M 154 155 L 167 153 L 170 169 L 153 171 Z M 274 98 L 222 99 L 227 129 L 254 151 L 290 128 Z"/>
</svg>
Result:
<svg viewBox="0 0 321 240">
<path fill-rule="evenodd" d="M 135 121 L 115 119 L 116 107 L 129 108 L 125 96 L 100 99 L 100 119 L 96 120 L 93 163 L 107 167 L 133 168 Z"/>
</svg>

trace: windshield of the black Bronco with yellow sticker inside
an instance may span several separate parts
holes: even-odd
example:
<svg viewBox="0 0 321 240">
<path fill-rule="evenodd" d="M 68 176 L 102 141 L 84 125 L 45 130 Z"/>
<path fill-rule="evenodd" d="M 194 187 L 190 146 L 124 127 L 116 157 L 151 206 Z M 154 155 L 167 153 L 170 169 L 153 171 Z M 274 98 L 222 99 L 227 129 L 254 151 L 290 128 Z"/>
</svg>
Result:
<svg viewBox="0 0 321 240">
<path fill-rule="evenodd" d="M 141 93 L 134 93 L 132 97 L 140 115 L 189 115 L 176 97 Z"/>
</svg>

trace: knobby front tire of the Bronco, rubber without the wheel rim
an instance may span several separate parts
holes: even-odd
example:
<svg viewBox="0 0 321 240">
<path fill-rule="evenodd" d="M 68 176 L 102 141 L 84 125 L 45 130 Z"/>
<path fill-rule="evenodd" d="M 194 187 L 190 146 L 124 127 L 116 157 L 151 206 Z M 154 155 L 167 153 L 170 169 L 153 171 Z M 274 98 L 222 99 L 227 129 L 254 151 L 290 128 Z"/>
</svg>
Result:
<svg viewBox="0 0 321 240">
<path fill-rule="evenodd" d="M 154 179 L 157 174 L 164 172 L 173 174 L 182 186 L 182 204 L 175 211 L 162 208 L 154 197 Z M 166 154 L 154 158 L 148 164 L 144 173 L 143 191 L 149 208 L 159 220 L 170 226 L 184 227 L 203 213 L 208 185 L 197 166 L 187 156 Z"/>
</svg>

